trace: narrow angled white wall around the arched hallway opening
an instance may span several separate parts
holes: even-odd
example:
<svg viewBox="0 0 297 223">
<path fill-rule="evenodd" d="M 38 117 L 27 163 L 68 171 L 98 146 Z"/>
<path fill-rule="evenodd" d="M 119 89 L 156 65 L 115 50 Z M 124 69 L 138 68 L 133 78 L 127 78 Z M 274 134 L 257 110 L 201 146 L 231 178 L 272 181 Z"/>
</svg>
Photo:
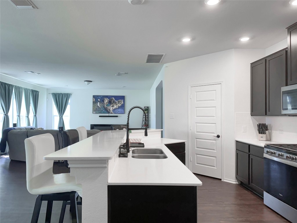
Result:
<svg viewBox="0 0 297 223">
<path fill-rule="evenodd" d="M 154 84 L 151 87 L 150 90 L 150 127 L 156 128 L 156 88 L 159 85 L 159 83 L 163 82 L 163 129 L 165 132 L 165 125 L 164 125 L 164 71 L 165 71 L 165 65 L 162 67 L 162 70 L 160 71 L 159 75 L 157 76 L 156 80 L 154 81 Z"/>
</svg>

